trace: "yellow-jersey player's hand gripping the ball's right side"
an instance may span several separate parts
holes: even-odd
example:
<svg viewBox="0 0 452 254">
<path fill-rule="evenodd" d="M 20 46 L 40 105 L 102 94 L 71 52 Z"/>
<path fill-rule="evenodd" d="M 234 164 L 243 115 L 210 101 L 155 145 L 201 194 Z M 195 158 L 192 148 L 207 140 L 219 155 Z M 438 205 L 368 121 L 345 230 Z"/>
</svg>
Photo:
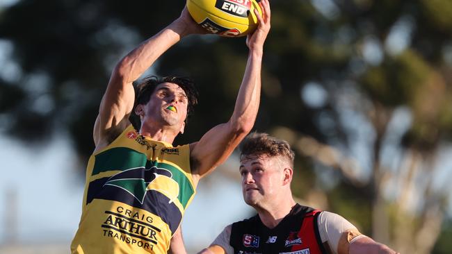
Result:
<svg viewBox="0 0 452 254">
<path fill-rule="evenodd" d="M 268 0 L 261 0 L 259 6 L 261 6 L 262 16 L 260 16 L 259 12 L 255 9 L 255 15 L 259 21 L 259 25 L 257 26 L 256 31 L 249 34 L 246 38 L 246 45 L 250 50 L 262 49 L 268 32 L 270 31 L 270 3 Z"/>
</svg>

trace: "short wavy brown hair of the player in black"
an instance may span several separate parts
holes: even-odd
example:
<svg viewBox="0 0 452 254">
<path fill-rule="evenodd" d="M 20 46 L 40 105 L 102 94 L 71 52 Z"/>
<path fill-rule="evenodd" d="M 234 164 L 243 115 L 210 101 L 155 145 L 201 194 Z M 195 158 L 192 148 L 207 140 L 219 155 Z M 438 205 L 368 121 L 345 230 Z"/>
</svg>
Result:
<svg viewBox="0 0 452 254">
<path fill-rule="evenodd" d="M 295 153 L 288 142 L 272 137 L 267 133 L 251 133 L 240 146 L 240 159 L 252 158 L 255 156 L 268 155 L 270 157 L 281 156 L 286 158 L 293 167 Z"/>
</svg>

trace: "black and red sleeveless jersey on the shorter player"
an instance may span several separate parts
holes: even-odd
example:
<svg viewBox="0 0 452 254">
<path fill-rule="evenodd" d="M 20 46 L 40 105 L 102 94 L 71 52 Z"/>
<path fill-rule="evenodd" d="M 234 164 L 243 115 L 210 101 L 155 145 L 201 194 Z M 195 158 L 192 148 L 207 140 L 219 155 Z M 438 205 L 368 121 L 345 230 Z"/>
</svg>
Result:
<svg viewBox="0 0 452 254">
<path fill-rule="evenodd" d="M 236 254 L 328 254 L 318 234 L 320 212 L 296 204 L 275 228 L 258 215 L 233 223 L 229 244 Z"/>
</svg>

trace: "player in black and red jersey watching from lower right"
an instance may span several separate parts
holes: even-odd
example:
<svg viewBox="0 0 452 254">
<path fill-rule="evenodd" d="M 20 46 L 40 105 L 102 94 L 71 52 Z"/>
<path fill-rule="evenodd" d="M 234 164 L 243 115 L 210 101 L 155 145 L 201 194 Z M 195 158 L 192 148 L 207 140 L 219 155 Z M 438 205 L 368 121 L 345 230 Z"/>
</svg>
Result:
<svg viewBox="0 0 452 254">
<path fill-rule="evenodd" d="M 257 215 L 227 226 L 200 253 L 396 253 L 338 214 L 296 203 L 290 187 L 294 156 L 286 141 L 265 133 L 245 138 L 240 158 L 243 199 Z"/>
</svg>

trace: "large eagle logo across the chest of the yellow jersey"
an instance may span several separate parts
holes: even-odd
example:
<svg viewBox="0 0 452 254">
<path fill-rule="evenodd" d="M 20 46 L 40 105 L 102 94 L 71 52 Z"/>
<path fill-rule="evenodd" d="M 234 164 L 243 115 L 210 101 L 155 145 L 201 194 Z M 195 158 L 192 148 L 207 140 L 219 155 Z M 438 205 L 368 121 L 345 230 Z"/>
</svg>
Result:
<svg viewBox="0 0 452 254">
<path fill-rule="evenodd" d="M 150 190 L 160 192 L 170 198 L 169 203 L 175 201 L 179 196 L 179 185 L 172 179 L 171 171 L 156 166 L 150 169 L 145 167 L 126 169 L 108 178 L 105 185 L 124 189 L 142 205 Z"/>
</svg>

